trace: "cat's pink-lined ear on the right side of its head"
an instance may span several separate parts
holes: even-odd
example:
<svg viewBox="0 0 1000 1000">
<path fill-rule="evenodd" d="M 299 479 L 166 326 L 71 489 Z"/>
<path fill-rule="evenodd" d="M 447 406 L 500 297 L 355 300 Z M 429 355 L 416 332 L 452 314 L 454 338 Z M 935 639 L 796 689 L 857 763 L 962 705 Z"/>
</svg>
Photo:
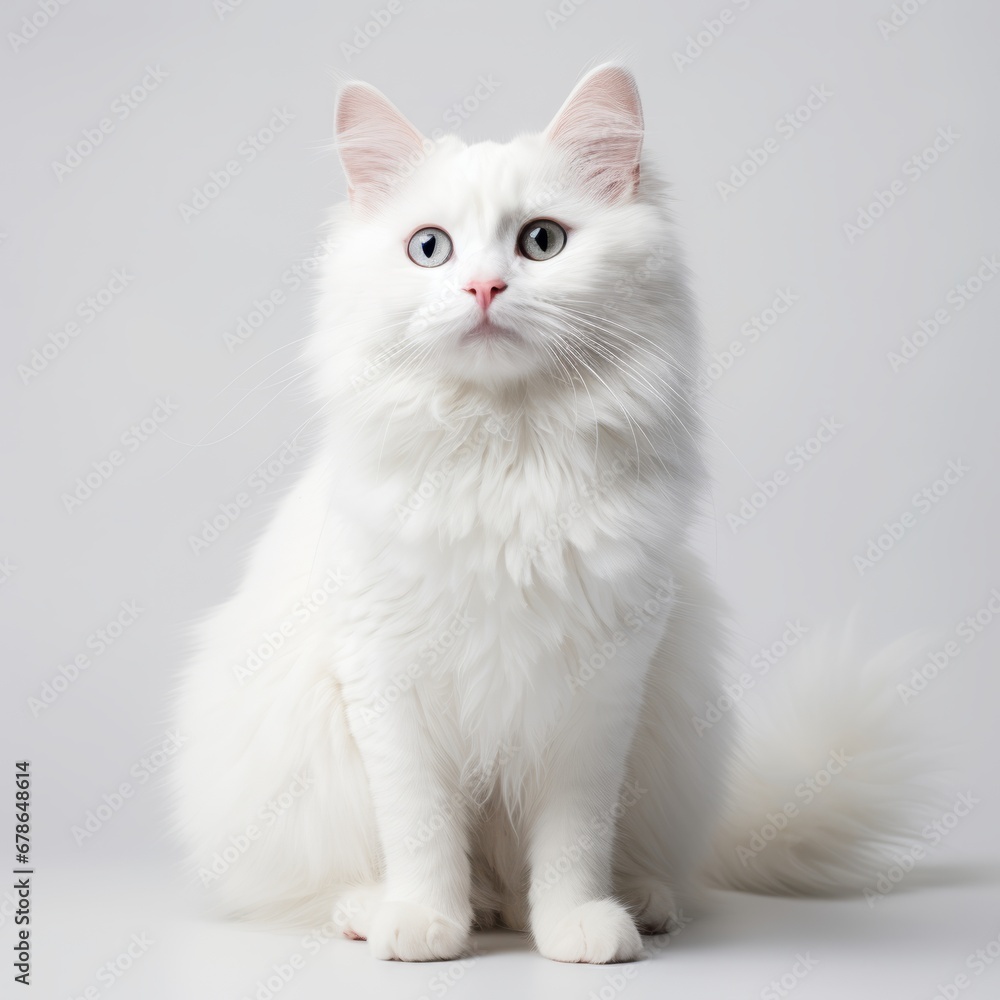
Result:
<svg viewBox="0 0 1000 1000">
<path fill-rule="evenodd" d="M 569 154 L 581 182 L 602 200 L 618 201 L 639 186 L 642 105 L 627 69 L 605 64 L 591 70 L 545 135 Z"/>
</svg>

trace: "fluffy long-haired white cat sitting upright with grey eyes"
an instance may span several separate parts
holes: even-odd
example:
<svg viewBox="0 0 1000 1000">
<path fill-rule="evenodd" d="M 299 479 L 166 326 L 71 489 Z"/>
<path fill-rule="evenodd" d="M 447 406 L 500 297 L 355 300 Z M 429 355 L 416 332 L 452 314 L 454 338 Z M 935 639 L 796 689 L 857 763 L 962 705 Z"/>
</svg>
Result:
<svg viewBox="0 0 1000 1000">
<path fill-rule="evenodd" d="M 909 776 L 879 663 L 787 667 L 741 744 L 735 712 L 695 724 L 725 659 L 688 545 L 700 346 L 631 75 L 599 67 L 505 145 L 432 144 L 351 83 L 336 132 L 322 442 L 180 693 L 200 881 L 378 958 L 454 958 L 500 921 L 569 962 L 635 958 L 701 865 L 862 886 Z"/>
</svg>

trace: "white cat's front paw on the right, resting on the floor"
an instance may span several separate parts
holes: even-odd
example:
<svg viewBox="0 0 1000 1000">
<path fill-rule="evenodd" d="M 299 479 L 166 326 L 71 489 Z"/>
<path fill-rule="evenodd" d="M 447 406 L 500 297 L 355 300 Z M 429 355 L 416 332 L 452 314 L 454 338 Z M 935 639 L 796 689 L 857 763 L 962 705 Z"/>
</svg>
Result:
<svg viewBox="0 0 1000 1000">
<path fill-rule="evenodd" d="M 549 927 L 536 927 L 535 941 L 557 962 L 631 962 L 642 951 L 631 914 L 613 899 L 591 900 Z"/>
</svg>

